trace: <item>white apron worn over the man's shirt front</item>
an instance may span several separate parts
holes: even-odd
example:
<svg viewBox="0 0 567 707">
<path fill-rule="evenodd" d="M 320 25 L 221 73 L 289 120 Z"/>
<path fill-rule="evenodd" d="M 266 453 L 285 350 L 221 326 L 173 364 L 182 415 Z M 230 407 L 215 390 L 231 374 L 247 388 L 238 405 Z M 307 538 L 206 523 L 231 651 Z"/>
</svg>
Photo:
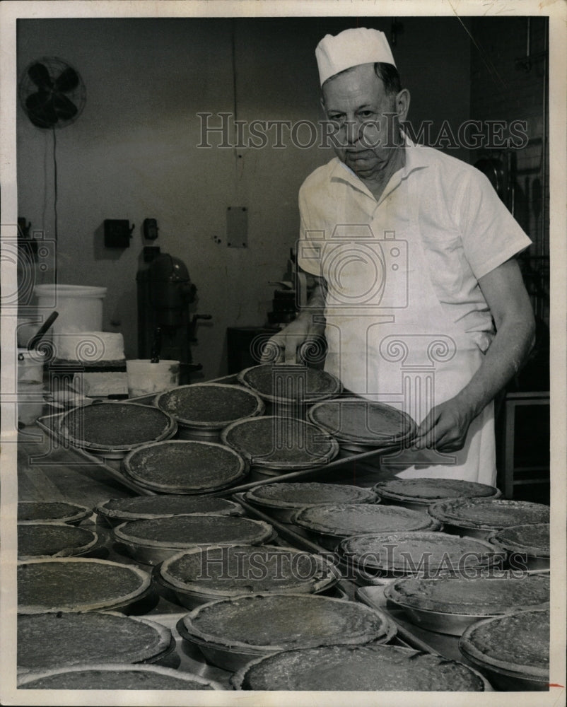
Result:
<svg viewBox="0 0 567 707">
<path fill-rule="evenodd" d="M 401 196 L 394 189 L 387 197 L 394 199 L 391 209 L 371 221 L 370 235 L 368 227 L 337 229 L 340 238 L 325 243 L 322 274 L 328 290 L 325 370 L 346 390 L 392 404 L 421 423 L 431 407 L 467 385 L 491 337 L 448 322 L 431 281 L 417 218 L 419 196 L 414 197 L 396 209 L 394 201 Z M 404 214 L 402 219 L 397 214 L 395 233 L 386 228 L 394 211 Z M 459 452 L 408 449 L 382 457 L 381 467 L 401 478 L 493 486 L 493 403 L 472 421 Z"/>
</svg>

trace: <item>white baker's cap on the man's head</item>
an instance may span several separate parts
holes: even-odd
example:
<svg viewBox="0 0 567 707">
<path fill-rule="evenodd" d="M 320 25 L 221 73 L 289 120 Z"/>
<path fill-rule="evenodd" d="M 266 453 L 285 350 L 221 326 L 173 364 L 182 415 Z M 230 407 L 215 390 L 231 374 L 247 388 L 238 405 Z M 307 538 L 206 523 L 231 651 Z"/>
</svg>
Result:
<svg viewBox="0 0 567 707">
<path fill-rule="evenodd" d="M 327 78 L 358 64 L 383 62 L 396 66 L 386 35 L 379 30 L 358 27 L 340 34 L 325 35 L 315 49 L 321 86 Z"/>
</svg>

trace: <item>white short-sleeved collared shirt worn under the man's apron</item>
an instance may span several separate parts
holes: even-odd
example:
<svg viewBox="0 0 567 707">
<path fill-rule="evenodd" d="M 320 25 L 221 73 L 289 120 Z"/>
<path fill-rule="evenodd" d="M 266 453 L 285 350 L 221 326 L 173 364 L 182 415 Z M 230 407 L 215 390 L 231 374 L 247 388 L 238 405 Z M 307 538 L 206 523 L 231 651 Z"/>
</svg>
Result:
<svg viewBox="0 0 567 707">
<path fill-rule="evenodd" d="M 493 332 L 479 279 L 531 244 L 489 180 L 476 168 L 406 139 L 405 165 L 380 201 L 344 163 L 334 158 L 300 187 L 298 263 L 325 276 L 320 247 L 339 224 L 368 224 L 375 238 L 385 228 L 403 233 L 414 209 L 429 276 L 450 325 L 471 334 L 481 350 Z M 410 206 L 411 205 L 411 206 Z M 416 210 L 416 211 L 415 211 Z"/>
</svg>

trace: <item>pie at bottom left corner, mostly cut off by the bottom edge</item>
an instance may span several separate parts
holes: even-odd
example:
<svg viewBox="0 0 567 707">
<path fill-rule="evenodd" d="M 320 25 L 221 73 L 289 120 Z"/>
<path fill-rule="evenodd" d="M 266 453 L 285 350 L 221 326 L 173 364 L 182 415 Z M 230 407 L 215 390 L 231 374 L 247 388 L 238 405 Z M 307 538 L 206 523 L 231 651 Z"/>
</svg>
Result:
<svg viewBox="0 0 567 707">
<path fill-rule="evenodd" d="M 77 665 L 26 675 L 28 690 L 224 690 L 219 682 L 160 665 Z"/>
</svg>

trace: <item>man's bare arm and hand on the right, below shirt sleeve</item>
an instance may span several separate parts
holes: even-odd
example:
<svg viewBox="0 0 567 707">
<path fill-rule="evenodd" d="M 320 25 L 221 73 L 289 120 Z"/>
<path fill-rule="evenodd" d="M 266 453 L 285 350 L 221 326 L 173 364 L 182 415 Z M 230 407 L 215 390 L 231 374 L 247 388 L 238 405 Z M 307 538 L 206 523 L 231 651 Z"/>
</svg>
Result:
<svg viewBox="0 0 567 707">
<path fill-rule="evenodd" d="M 415 440 L 418 449 L 462 449 L 472 420 L 518 373 L 534 345 L 534 314 L 515 259 L 481 277 L 479 286 L 491 310 L 496 336 L 469 384 L 423 420 Z"/>
</svg>

